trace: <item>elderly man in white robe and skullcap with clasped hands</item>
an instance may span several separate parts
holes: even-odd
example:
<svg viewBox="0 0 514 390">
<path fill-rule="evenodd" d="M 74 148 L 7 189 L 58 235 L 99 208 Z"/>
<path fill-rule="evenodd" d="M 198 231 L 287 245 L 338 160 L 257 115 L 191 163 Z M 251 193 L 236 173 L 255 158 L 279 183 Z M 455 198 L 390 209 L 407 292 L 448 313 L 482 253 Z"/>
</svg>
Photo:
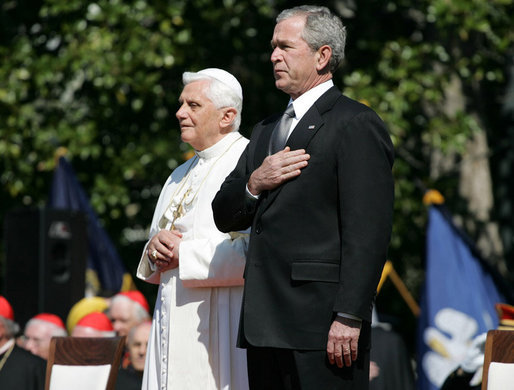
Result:
<svg viewBox="0 0 514 390">
<path fill-rule="evenodd" d="M 216 68 L 185 72 L 183 83 L 176 116 L 195 156 L 164 184 L 137 269 L 159 284 L 142 389 L 244 390 L 236 339 L 248 232 L 221 233 L 211 209 L 248 143 L 242 88 Z"/>
</svg>

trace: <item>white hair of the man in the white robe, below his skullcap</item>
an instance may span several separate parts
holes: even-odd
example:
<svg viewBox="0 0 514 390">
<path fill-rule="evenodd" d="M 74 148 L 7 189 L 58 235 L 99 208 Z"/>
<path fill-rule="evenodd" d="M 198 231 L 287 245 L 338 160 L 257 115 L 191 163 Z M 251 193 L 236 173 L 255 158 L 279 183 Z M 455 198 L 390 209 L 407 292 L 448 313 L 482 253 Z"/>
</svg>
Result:
<svg viewBox="0 0 514 390">
<path fill-rule="evenodd" d="M 182 82 L 184 86 L 198 80 L 209 80 L 209 88 L 205 91 L 207 98 L 214 104 L 217 109 L 225 107 L 233 107 L 236 109 L 236 117 L 232 122 L 232 131 L 239 130 L 241 125 L 241 111 L 243 111 L 243 101 L 237 96 L 232 89 L 204 74 L 196 72 L 184 72 L 182 74 Z"/>
</svg>

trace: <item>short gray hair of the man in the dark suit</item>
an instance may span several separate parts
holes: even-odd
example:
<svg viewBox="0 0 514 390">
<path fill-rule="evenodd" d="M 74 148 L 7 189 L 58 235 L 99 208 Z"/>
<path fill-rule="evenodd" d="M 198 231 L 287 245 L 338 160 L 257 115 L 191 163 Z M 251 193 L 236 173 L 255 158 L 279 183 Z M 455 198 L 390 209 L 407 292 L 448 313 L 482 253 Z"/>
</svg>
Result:
<svg viewBox="0 0 514 390">
<path fill-rule="evenodd" d="M 302 38 L 307 42 L 307 45 L 314 51 L 324 45 L 328 45 L 332 49 L 329 68 L 334 73 L 344 59 L 346 27 L 343 22 L 338 16 L 331 13 L 327 7 L 314 5 L 300 5 L 286 9 L 277 16 L 276 22 L 279 23 L 298 15 L 305 15 L 306 17 Z"/>
</svg>

